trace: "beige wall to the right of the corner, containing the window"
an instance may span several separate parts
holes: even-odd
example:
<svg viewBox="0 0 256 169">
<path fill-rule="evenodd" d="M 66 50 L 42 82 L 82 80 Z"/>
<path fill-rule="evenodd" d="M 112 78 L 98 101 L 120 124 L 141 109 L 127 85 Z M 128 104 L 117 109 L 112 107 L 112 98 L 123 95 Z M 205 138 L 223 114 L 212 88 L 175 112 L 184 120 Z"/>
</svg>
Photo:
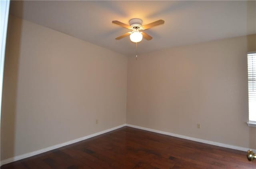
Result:
<svg viewBox="0 0 256 169">
<path fill-rule="evenodd" d="M 255 128 L 246 124 L 246 53 L 256 50 L 255 40 L 243 36 L 128 58 L 126 122 L 255 149 Z"/>
</svg>

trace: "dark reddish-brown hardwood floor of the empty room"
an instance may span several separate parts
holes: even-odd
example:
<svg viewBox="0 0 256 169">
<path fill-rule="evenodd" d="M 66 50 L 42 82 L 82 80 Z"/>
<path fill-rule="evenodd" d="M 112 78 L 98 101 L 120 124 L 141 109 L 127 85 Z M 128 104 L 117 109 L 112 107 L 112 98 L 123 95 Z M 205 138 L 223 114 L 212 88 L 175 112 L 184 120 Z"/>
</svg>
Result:
<svg viewBox="0 0 256 169">
<path fill-rule="evenodd" d="M 122 127 L 1 169 L 256 169 L 246 152 Z"/>
</svg>

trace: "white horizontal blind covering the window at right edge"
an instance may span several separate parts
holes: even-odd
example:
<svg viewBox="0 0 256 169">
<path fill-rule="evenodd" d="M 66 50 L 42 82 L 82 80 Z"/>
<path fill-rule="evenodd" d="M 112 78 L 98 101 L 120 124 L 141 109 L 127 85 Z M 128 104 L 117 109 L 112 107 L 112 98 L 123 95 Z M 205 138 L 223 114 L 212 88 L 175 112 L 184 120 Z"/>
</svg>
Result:
<svg viewBox="0 0 256 169">
<path fill-rule="evenodd" d="M 256 122 L 256 52 L 248 52 L 249 122 Z"/>
</svg>

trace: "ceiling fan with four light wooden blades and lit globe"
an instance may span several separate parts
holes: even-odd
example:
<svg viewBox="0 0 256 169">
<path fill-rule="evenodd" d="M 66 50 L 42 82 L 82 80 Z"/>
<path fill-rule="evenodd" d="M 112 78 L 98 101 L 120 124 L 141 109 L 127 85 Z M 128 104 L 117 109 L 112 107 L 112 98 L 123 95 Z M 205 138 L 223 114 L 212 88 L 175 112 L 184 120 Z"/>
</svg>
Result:
<svg viewBox="0 0 256 169">
<path fill-rule="evenodd" d="M 145 38 L 146 40 L 152 40 L 152 36 L 146 34 L 145 32 L 140 32 L 140 30 L 147 30 L 154 26 L 162 25 L 162 24 L 164 24 L 164 20 L 157 20 L 155 22 L 152 22 L 150 24 L 146 24 L 143 26 L 142 26 L 142 20 L 138 19 L 138 18 L 133 18 L 133 19 L 129 20 L 130 25 L 124 24 L 117 20 L 113 20 L 112 23 L 122 26 L 123 28 L 132 30 L 132 32 L 127 32 L 121 36 L 118 36 L 116 38 L 116 40 L 120 40 L 120 39 L 130 35 L 130 40 L 132 42 L 140 42 L 142 40 L 142 37 Z"/>
</svg>

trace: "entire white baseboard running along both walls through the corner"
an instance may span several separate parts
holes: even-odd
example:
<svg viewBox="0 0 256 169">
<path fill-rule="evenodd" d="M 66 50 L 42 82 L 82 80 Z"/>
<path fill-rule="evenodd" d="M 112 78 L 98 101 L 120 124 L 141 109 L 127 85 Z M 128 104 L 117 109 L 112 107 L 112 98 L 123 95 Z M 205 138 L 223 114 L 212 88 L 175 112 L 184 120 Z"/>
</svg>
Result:
<svg viewBox="0 0 256 169">
<path fill-rule="evenodd" d="M 236 150 L 241 150 L 241 151 L 248 151 L 248 149 L 249 149 L 249 148 L 244 148 L 244 147 L 238 147 L 238 146 L 235 146 L 235 145 L 228 145 L 228 144 L 224 144 L 224 143 L 218 143 L 218 142 L 214 142 L 214 141 L 208 141 L 208 140 L 203 140 L 203 139 L 197 139 L 197 138 L 194 138 L 194 137 L 188 137 L 188 136 L 185 136 L 185 135 L 179 135 L 179 134 L 169 133 L 169 132 L 165 132 L 165 131 L 150 129 L 150 128 L 146 128 L 146 127 L 140 127 L 140 126 L 137 126 L 137 125 L 123 124 L 123 125 L 113 127 L 111 129 L 106 129 L 104 131 L 100 131 L 100 132 L 97 132 L 97 133 L 94 133 L 94 134 L 87 135 L 85 137 L 80 137 L 78 139 L 74 139 L 74 140 L 71 140 L 71 141 L 68 141 L 68 142 L 65 142 L 65 143 L 60 143 L 58 145 L 53 145 L 51 147 L 46 147 L 44 149 L 40 149 L 40 150 L 37 150 L 37 151 L 33 151 L 33 152 L 30 152 L 30 153 L 26 153 L 26 154 L 18 155 L 18 156 L 9 158 L 9 159 L 2 160 L 1 165 L 11 163 L 11 162 L 14 162 L 14 161 L 18 161 L 20 159 L 24 159 L 24 158 L 27 158 L 27 157 L 31 157 L 33 155 L 38 155 L 40 153 L 44 153 L 46 151 L 57 149 L 57 148 L 65 146 L 65 145 L 69 145 L 69 144 L 73 144 L 73 143 L 76 143 L 76 142 L 79 142 L 79 141 L 82 141 L 82 140 L 86 140 L 86 139 L 89 139 L 91 137 L 95 137 L 97 135 L 101 135 L 101 134 L 107 133 L 109 131 L 119 129 L 119 128 L 124 127 L 124 126 L 133 127 L 133 128 L 136 128 L 136 129 L 142 129 L 142 130 L 146 130 L 146 131 L 152 131 L 154 133 L 170 135 L 170 136 L 179 137 L 179 138 L 182 138 L 182 139 L 188 139 L 188 140 L 192 140 L 192 141 L 197 141 L 197 142 L 201 142 L 201 143 L 217 145 L 217 146 L 220 146 L 220 147 L 226 147 L 226 148 L 230 148 L 230 149 L 236 149 Z M 252 149 L 252 150 L 254 152 L 256 152 L 255 149 Z"/>
</svg>

